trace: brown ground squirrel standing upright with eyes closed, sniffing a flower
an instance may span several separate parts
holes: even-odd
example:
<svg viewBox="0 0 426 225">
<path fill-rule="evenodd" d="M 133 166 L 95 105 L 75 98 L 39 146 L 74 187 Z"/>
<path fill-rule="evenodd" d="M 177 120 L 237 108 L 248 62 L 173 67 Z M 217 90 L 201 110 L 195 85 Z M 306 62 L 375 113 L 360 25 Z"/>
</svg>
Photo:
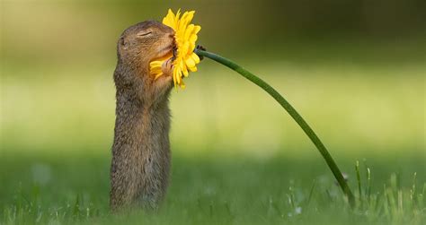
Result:
<svg viewBox="0 0 426 225">
<path fill-rule="evenodd" d="M 149 63 L 172 56 L 174 30 L 160 22 L 139 22 L 117 44 L 116 120 L 111 159 L 111 212 L 129 206 L 156 210 L 166 193 L 171 163 L 169 96 L 173 58 L 164 75 L 149 74 Z"/>
</svg>

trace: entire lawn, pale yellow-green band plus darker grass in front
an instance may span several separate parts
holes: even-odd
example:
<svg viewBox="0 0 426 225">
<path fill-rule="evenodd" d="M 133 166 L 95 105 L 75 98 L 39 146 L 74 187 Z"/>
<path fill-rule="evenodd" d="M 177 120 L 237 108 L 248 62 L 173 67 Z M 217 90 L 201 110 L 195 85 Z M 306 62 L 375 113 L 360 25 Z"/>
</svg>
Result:
<svg viewBox="0 0 426 225">
<path fill-rule="evenodd" d="M 111 215 L 113 68 L 10 66 L 0 224 L 425 224 L 424 65 L 247 65 L 323 139 L 357 197 L 353 210 L 280 106 L 209 62 L 173 91 L 172 180 L 161 209 Z"/>
</svg>

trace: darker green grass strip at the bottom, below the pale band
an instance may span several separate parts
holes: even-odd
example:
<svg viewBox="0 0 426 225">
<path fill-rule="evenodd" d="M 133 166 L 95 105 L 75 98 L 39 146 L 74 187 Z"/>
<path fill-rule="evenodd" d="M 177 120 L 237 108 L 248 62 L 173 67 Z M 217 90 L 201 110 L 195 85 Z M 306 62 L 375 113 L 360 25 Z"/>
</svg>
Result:
<svg viewBox="0 0 426 225">
<path fill-rule="evenodd" d="M 99 152 L 87 149 L 88 152 Z M 43 151 L 39 151 L 43 152 Z M 4 153 L 1 224 L 424 224 L 422 159 L 341 160 L 356 192 L 349 208 L 319 155 L 270 160 L 173 156 L 171 186 L 157 213 L 108 211 L 109 154 Z M 387 167 L 383 166 L 387 165 Z M 404 166 L 401 166 L 404 165 Z M 392 167 L 392 166 L 391 166 Z M 396 169 L 396 168 L 395 168 Z M 368 172 L 369 171 L 369 172 Z M 419 173 L 415 177 L 414 171 Z M 357 178 L 359 176 L 359 178 Z M 357 188 L 356 188 L 357 187 Z"/>
</svg>

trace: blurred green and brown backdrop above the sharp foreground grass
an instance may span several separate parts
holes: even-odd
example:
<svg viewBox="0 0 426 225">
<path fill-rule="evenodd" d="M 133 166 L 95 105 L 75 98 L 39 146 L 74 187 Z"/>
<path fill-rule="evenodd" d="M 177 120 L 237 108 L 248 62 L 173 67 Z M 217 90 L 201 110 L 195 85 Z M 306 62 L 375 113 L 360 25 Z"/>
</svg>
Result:
<svg viewBox="0 0 426 225">
<path fill-rule="evenodd" d="M 355 160 L 365 160 L 379 181 L 397 172 L 407 184 L 417 172 L 424 182 L 425 6 L 422 0 L 2 0 L 0 206 L 36 183 L 46 198 L 82 193 L 107 207 L 116 41 L 131 24 L 161 21 L 168 8 L 196 10 L 199 44 L 280 91 L 351 186 Z M 270 178 L 284 189 L 290 180 L 308 188 L 315 177 L 332 179 L 306 135 L 252 83 L 205 59 L 186 84 L 171 97 L 168 201 L 191 182 L 204 193 L 213 175 L 227 188 L 216 186 L 219 193 Z M 266 173 L 272 177 L 262 178 Z"/>
</svg>

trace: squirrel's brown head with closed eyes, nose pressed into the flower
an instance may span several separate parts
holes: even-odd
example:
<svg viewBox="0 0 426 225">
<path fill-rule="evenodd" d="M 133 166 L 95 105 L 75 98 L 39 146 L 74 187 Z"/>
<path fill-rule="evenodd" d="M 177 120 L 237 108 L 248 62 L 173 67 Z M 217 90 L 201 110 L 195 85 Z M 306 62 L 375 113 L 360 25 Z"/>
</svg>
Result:
<svg viewBox="0 0 426 225">
<path fill-rule="evenodd" d="M 157 58 L 172 56 L 174 30 L 161 22 L 139 22 L 124 30 L 117 44 L 119 58 L 114 80 L 118 89 L 142 92 L 144 99 L 156 99 L 173 86 L 172 63 L 164 63 L 164 75 L 154 80 L 149 63 Z M 119 73 L 117 73 L 119 72 Z"/>
</svg>

